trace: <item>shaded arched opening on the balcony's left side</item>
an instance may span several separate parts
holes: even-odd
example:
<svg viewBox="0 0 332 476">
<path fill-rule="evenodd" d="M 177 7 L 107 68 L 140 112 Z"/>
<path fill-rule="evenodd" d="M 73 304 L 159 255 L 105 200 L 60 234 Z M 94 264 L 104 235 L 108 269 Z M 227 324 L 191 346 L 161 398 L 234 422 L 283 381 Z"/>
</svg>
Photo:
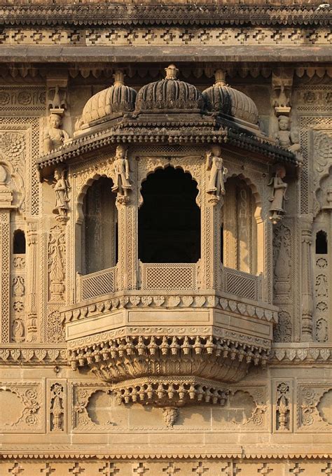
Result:
<svg viewBox="0 0 332 476">
<path fill-rule="evenodd" d="M 113 181 L 101 177 L 90 186 L 83 200 L 83 274 L 116 265 L 118 218 Z"/>
</svg>

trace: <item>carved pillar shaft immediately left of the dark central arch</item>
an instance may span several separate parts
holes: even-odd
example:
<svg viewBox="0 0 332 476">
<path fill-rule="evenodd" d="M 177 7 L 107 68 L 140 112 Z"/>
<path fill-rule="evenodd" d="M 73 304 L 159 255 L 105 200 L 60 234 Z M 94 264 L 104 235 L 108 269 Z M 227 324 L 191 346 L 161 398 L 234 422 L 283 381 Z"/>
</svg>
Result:
<svg viewBox="0 0 332 476">
<path fill-rule="evenodd" d="M 137 288 L 137 200 L 132 195 L 129 204 L 116 200 L 118 209 L 118 289 Z"/>
</svg>

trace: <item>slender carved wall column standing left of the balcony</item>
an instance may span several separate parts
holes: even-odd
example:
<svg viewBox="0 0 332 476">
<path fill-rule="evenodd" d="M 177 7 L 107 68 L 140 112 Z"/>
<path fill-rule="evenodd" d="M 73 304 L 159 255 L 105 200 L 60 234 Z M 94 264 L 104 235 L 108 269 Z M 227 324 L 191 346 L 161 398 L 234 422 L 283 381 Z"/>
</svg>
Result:
<svg viewBox="0 0 332 476">
<path fill-rule="evenodd" d="M 27 223 L 27 342 L 37 337 L 37 223 Z"/>
</svg>

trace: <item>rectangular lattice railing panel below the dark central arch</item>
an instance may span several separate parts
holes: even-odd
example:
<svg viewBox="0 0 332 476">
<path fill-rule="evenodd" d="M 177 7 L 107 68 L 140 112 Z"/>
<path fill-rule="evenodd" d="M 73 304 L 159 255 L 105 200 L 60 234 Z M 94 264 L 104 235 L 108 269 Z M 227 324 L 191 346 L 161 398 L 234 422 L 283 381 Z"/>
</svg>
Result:
<svg viewBox="0 0 332 476">
<path fill-rule="evenodd" d="M 197 289 L 197 263 L 140 262 L 141 289 Z"/>
</svg>

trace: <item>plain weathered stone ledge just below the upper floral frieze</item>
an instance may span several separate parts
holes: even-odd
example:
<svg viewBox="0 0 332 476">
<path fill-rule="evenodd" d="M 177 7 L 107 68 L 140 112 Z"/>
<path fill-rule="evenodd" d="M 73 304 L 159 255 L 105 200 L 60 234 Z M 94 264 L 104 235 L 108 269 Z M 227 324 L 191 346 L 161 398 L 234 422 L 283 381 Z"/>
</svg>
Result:
<svg viewBox="0 0 332 476">
<path fill-rule="evenodd" d="M 167 62 L 265 62 L 293 64 L 332 62 L 331 45 L 300 46 L 69 46 L 69 45 L 16 45 L 0 46 L 0 63 L 24 64 L 77 64 L 91 65 L 112 63 L 137 64 Z"/>
</svg>

